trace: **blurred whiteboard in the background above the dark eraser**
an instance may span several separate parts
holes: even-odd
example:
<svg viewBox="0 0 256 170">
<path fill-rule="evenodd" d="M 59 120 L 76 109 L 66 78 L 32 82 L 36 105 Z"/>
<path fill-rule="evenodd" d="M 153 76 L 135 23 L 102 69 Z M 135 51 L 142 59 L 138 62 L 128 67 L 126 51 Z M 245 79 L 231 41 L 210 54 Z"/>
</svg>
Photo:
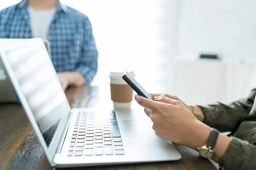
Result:
<svg viewBox="0 0 256 170">
<path fill-rule="evenodd" d="M 256 58 L 256 0 L 183 0 L 176 54 Z"/>
</svg>

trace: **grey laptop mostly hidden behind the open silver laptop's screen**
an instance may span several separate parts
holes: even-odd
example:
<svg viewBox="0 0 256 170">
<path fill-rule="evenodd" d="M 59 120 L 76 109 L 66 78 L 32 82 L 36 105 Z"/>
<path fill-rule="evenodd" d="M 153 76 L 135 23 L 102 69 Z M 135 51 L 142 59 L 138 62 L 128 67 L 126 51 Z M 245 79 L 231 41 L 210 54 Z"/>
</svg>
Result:
<svg viewBox="0 0 256 170">
<path fill-rule="evenodd" d="M 17 41 L 22 39 L 0 39 L 1 41 Z M 50 44 L 48 40 L 43 40 L 44 45 L 47 48 L 48 54 L 51 55 Z M 12 87 L 12 82 L 9 79 L 6 68 L 0 56 L 0 103 L 16 103 L 20 102 L 14 88 Z"/>
</svg>

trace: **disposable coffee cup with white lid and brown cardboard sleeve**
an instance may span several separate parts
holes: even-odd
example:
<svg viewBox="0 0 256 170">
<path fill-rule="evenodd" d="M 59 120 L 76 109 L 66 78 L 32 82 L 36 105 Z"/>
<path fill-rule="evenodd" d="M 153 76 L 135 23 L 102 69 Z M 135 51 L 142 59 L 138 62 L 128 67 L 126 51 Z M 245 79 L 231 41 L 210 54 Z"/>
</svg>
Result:
<svg viewBox="0 0 256 170">
<path fill-rule="evenodd" d="M 135 76 L 134 71 L 120 70 L 110 72 L 111 100 L 114 109 L 129 109 L 133 98 L 133 89 L 122 79 L 122 75 L 128 71 Z"/>
</svg>

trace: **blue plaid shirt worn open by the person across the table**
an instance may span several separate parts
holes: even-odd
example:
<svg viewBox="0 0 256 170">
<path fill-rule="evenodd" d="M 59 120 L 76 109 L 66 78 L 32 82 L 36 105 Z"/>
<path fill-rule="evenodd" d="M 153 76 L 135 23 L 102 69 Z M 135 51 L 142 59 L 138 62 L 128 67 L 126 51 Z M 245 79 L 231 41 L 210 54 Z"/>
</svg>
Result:
<svg viewBox="0 0 256 170">
<path fill-rule="evenodd" d="M 0 11 L 0 38 L 32 38 L 27 0 Z M 98 70 L 98 51 L 88 17 L 58 1 L 47 40 L 56 72 L 78 71 L 90 84 Z"/>
</svg>

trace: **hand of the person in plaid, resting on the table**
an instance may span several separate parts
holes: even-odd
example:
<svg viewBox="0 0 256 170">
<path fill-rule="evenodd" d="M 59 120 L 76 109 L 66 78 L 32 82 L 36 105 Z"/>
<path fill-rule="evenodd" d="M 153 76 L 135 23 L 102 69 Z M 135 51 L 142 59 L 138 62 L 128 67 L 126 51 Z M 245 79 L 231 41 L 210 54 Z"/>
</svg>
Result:
<svg viewBox="0 0 256 170">
<path fill-rule="evenodd" d="M 57 73 L 57 76 L 64 91 L 69 85 L 80 86 L 85 83 L 84 77 L 76 71 Z"/>
</svg>

